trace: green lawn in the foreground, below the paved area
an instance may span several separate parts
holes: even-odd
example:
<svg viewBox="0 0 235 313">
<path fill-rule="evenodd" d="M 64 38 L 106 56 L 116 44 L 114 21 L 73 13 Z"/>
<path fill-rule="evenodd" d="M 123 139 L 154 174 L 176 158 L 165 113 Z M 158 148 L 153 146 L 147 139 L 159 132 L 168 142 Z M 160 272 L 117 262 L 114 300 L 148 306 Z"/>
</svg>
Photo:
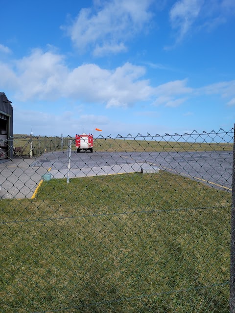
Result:
<svg viewBox="0 0 235 313">
<path fill-rule="evenodd" d="M 229 312 L 230 206 L 166 172 L 2 200 L 1 312 Z"/>
</svg>

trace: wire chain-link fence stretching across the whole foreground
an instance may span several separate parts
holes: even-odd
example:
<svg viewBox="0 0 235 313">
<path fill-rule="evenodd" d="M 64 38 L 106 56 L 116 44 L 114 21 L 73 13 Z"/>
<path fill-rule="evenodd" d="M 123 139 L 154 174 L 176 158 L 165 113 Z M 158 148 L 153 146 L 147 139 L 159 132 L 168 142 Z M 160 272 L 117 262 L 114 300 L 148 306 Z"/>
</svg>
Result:
<svg viewBox="0 0 235 313">
<path fill-rule="evenodd" d="M 99 136 L 81 153 L 70 136 L 13 142 L 0 312 L 235 312 L 234 129 Z"/>
</svg>

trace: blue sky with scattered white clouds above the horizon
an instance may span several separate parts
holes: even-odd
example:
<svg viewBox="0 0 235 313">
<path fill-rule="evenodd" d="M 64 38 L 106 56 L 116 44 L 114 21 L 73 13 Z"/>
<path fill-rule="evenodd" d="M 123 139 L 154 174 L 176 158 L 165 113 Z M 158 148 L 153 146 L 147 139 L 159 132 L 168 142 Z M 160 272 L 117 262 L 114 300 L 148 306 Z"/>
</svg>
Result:
<svg viewBox="0 0 235 313">
<path fill-rule="evenodd" d="M 0 0 L 0 11 L 14 134 L 234 127 L 235 0 Z"/>
</svg>

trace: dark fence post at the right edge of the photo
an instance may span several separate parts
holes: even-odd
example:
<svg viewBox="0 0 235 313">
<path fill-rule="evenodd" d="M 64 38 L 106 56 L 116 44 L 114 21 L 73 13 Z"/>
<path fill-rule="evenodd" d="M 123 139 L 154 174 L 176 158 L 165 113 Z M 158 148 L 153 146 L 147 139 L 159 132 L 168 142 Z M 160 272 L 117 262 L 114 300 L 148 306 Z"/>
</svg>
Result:
<svg viewBox="0 0 235 313">
<path fill-rule="evenodd" d="M 230 265 L 230 313 L 235 313 L 235 126 L 232 174 L 232 208 L 231 208 L 231 265 Z"/>
</svg>

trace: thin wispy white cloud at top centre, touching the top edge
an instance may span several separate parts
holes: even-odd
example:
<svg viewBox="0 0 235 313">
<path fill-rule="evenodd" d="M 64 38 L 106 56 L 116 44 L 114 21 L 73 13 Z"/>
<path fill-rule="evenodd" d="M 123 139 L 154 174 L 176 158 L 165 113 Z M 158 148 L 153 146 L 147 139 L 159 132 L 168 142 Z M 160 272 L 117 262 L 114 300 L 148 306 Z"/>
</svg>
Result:
<svg viewBox="0 0 235 313">
<path fill-rule="evenodd" d="M 125 51 L 124 42 L 141 31 L 152 18 L 153 0 L 96 1 L 95 11 L 82 9 L 71 25 L 62 26 L 73 44 L 84 51 L 94 49 L 96 56 Z"/>
</svg>

